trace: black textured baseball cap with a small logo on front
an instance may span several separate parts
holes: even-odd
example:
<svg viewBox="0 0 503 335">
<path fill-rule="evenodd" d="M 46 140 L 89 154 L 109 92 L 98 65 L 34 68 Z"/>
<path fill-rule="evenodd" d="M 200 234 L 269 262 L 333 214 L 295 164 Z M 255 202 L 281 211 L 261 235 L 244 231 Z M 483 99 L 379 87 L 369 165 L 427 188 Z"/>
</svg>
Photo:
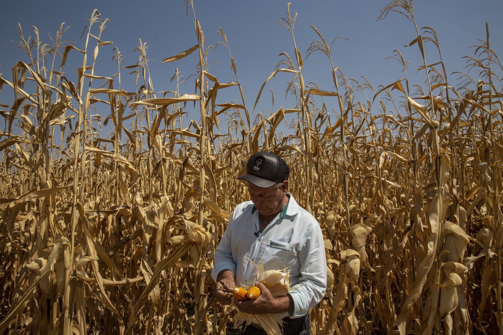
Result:
<svg viewBox="0 0 503 335">
<path fill-rule="evenodd" d="M 246 163 L 246 174 L 237 177 L 259 187 L 267 188 L 288 180 L 290 168 L 283 158 L 272 152 L 258 152 Z"/>
</svg>

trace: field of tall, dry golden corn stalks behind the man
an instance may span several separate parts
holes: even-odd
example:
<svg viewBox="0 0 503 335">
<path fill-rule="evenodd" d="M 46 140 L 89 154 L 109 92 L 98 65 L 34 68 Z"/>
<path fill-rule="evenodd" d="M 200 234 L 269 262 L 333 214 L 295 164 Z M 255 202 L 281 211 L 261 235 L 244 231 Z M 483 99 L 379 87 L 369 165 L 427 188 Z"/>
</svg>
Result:
<svg viewBox="0 0 503 335">
<path fill-rule="evenodd" d="M 448 74 L 435 30 L 418 28 L 412 2 L 391 2 L 380 19 L 410 19 L 423 79 L 408 81 L 395 50 L 403 78 L 374 87 L 343 74 L 314 26 L 319 39 L 298 50 L 288 5 L 293 57 L 251 103 L 278 74 L 295 102 L 267 115 L 245 104 L 221 29 L 235 81 L 209 72 L 197 4 L 186 6 L 194 46 L 162 62 L 199 59 L 196 75 L 181 86 L 177 70 L 176 90 L 161 93 L 141 41 L 135 64 L 114 47 L 116 75 L 95 72 L 112 44 L 97 10 L 76 45 L 62 42 L 64 25 L 51 45 L 20 26 L 27 59 L 0 75 L 1 94 L 15 96 L 1 107 L 0 333 L 231 333 L 235 309 L 215 301 L 213 255 L 248 200 L 235 178 L 251 154 L 272 151 L 326 239 L 328 288 L 311 333 L 503 334 L 503 67 L 489 27 L 469 49 L 471 75 Z M 326 55 L 332 87 L 303 77 L 311 53 Z M 65 68 L 68 58 L 82 65 Z M 121 89 L 130 71 L 133 92 Z M 200 119 L 184 122 L 189 111 Z"/>
</svg>

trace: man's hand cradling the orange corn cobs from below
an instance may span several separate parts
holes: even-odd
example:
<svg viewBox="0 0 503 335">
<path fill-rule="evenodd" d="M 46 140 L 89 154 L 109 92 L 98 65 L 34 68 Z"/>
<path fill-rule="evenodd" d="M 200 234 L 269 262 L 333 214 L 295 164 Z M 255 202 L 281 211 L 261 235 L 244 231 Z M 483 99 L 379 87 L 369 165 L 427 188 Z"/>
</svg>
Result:
<svg viewBox="0 0 503 335">
<path fill-rule="evenodd" d="M 234 298 L 234 304 L 241 311 L 249 314 L 282 313 L 293 310 L 293 299 L 287 295 L 274 298 L 267 287 L 256 281 L 255 286 L 260 288 L 260 297 L 257 299 L 239 301 Z"/>
</svg>

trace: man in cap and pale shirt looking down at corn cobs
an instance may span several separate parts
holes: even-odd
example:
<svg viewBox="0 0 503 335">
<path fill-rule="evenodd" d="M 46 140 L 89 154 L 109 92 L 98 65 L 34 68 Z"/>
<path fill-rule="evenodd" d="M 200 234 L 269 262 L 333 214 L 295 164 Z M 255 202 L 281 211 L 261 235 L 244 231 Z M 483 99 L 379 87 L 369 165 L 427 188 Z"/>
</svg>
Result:
<svg viewBox="0 0 503 335">
<path fill-rule="evenodd" d="M 250 201 L 234 209 L 227 229 L 215 252 L 212 277 L 216 299 L 230 303 L 227 289 L 235 283 L 256 285 L 257 299 L 239 301 L 236 307 L 246 313 L 281 313 L 285 334 L 309 334 L 309 309 L 326 289 L 326 260 L 323 235 L 316 219 L 300 207 L 288 192 L 290 168 L 280 157 L 259 152 L 248 160 L 245 180 Z M 257 268 L 250 262 L 264 262 L 266 270 L 290 271 L 288 295 L 274 298 L 264 284 L 253 282 Z M 251 281 L 251 282 L 250 282 Z M 248 325 L 243 334 L 266 334 Z"/>
</svg>

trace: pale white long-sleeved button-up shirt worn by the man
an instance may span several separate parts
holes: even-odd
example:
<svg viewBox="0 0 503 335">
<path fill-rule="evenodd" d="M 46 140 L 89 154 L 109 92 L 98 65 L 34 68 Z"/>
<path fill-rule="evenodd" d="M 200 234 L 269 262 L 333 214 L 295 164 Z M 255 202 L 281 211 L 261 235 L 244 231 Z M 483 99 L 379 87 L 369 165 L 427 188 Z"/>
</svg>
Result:
<svg viewBox="0 0 503 335">
<path fill-rule="evenodd" d="M 253 202 L 234 209 L 225 234 L 215 252 L 211 276 L 216 281 L 222 270 L 231 270 L 236 285 L 253 285 L 257 268 L 249 261 L 264 261 L 265 270 L 290 271 L 288 294 L 293 312 L 282 317 L 301 317 L 314 307 L 326 290 L 326 259 L 323 235 L 316 219 L 288 193 L 287 206 L 260 233 L 259 212 Z M 257 236 L 258 235 L 258 236 Z"/>
</svg>

